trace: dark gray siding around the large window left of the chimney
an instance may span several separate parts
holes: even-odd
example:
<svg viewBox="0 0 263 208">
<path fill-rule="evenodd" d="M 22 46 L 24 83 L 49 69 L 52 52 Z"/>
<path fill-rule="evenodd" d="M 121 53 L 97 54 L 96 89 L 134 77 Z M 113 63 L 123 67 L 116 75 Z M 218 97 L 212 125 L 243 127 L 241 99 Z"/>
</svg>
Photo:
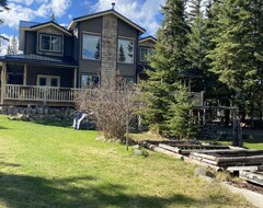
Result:
<svg viewBox="0 0 263 208">
<path fill-rule="evenodd" d="M 100 73 L 101 61 L 82 59 L 82 34 L 83 32 L 102 34 L 102 18 L 95 18 L 79 23 L 79 74 Z"/>
</svg>

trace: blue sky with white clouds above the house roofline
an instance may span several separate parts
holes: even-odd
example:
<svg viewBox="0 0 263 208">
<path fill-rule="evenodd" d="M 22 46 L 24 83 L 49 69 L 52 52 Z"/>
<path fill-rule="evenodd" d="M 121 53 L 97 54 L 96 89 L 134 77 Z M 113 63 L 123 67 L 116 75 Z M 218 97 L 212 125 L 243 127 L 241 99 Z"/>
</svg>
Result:
<svg viewBox="0 0 263 208">
<path fill-rule="evenodd" d="M 116 3 L 116 11 L 147 30 L 147 35 L 155 35 L 159 27 L 160 5 L 164 0 L 8 0 L 11 11 L 1 12 L 4 25 L 0 34 L 19 34 L 19 21 L 46 22 L 52 13 L 62 26 L 69 25 L 73 18 L 111 9 Z"/>
</svg>

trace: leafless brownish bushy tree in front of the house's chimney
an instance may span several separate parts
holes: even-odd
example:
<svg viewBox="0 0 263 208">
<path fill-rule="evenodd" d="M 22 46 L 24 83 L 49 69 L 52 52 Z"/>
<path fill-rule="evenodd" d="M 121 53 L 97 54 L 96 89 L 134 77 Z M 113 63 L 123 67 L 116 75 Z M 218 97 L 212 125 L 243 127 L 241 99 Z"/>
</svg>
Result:
<svg viewBox="0 0 263 208">
<path fill-rule="evenodd" d="M 103 78 L 100 88 L 82 89 L 77 96 L 77 108 L 92 113 L 98 130 L 106 139 L 121 139 L 126 145 L 130 120 L 138 108 L 134 83 L 126 83 L 119 76 Z"/>
</svg>

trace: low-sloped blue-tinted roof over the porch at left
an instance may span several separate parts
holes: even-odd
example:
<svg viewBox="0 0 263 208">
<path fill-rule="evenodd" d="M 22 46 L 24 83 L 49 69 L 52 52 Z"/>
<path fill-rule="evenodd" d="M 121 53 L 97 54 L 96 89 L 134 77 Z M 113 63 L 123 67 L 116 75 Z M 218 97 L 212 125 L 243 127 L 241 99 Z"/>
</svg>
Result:
<svg viewBox="0 0 263 208">
<path fill-rule="evenodd" d="M 35 54 L 1 56 L 0 61 L 78 67 L 78 63 L 71 57 L 48 57 Z"/>
</svg>

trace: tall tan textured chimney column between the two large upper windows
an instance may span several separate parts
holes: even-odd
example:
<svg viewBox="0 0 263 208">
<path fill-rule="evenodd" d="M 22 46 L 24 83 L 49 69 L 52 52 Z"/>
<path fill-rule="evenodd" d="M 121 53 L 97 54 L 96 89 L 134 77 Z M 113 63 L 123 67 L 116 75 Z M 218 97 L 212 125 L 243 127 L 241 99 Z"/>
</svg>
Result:
<svg viewBox="0 0 263 208">
<path fill-rule="evenodd" d="M 103 83 L 104 77 L 116 72 L 117 16 L 104 15 L 102 27 L 101 77 Z"/>
</svg>

